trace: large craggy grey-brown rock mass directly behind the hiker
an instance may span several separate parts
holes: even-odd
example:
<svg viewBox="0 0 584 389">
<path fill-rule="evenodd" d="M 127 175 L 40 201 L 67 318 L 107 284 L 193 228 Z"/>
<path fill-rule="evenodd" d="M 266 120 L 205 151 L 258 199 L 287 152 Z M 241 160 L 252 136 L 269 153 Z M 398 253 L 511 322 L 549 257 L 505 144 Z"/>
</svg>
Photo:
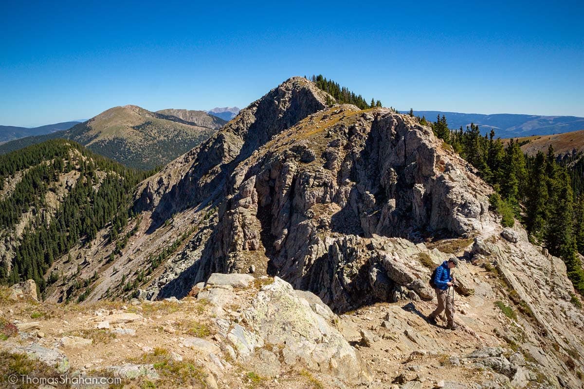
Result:
<svg viewBox="0 0 584 389">
<path fill-rule="evenodd" d="M 432 254 L 411 242 L 492 221 L 488 185 L 430 128 L 385 108 L 310 115 L 239 163 L 229 184 L 193 281 L 266 258 L 270 274 L 338 310 L 391 300 L 397 286 L 432 298 L 415 260 Z"/>
</svg>

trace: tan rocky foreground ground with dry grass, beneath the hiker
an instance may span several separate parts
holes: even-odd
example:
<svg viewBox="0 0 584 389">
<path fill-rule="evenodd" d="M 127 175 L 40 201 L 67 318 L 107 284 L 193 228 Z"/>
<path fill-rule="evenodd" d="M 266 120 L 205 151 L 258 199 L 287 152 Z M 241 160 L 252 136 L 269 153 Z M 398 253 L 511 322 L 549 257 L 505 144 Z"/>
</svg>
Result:
<svg viewBox="0 0 584 389">
<path fill-rule="evenodd" d="M 457 331 L 426 322 L 435 299 L 336 316 L 265 276 L 214 274 L 185 299 L 125 305 L 38 303 L 22 285 L 2 290 L 1 375 L 120 377 L 121 387 L 140 388 L 554 387 L 529 352 L 502 338 L 521 324 L 493 298 L 496 279 L 470 263 L 463 274 L 487 281 L 456 296 Z"/>
</svg>

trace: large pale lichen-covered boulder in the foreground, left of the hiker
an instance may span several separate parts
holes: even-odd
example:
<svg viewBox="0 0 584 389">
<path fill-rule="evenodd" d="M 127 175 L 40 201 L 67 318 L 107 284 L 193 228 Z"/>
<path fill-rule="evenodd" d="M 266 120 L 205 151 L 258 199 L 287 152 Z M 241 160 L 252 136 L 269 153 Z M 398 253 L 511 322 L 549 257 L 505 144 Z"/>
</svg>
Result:
<svg viewBox="0 0 584 389">
<path fill-rule="evenodd" d="M 207 283 L 198 299 L 208 299 L 204 292 L 223 289 L 217 283 L 219 279 L 230 281 L 218 274 L 210 279 L 213 284 Z M 223 307 L 230 301 L 233 299 L 223 295 L 211 304 Z M 224 313 L 218 314 L 218 327 L 223 327 L 223 336 L 241 362 L 259 359 L 262 371 L 309 369 L 345 383 L 371 381 L 371 372 L 359 352 L 335 327 L 339 318 L 324 308 L 318 297 L 307 292 L 295 293 L 289 283 L 278 277 L 263 286 L 242 312 L 245 327 L 238 323 L 239 319 L 229 323 L 221 316 Z"/>
</svg>

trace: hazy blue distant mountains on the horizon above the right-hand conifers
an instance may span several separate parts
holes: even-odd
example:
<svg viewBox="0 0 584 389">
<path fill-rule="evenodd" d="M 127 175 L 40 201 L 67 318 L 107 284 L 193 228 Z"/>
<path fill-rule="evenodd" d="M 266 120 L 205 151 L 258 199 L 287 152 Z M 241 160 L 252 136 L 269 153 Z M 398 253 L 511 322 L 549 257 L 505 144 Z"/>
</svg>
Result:
<svg viewBox="0 0 584 389">
<path fill-rule="evenodd" d="M 407 113 L 407 111 L 402 111 Z M 584 118 L 575 116 L 541 116 L 522 114 L 465 114 L 443 111 L 413 111 L 416 116 L 424 116 L 428 121 L 436 121 L 437 115 L 444 115 L 448 127 L 466 128 L 471 123 L 478 124 L 482 134 L 495 130 L 495 136 L 517 138 L 532 135 L 551 135 L 584 129 Z"/>
</svg>

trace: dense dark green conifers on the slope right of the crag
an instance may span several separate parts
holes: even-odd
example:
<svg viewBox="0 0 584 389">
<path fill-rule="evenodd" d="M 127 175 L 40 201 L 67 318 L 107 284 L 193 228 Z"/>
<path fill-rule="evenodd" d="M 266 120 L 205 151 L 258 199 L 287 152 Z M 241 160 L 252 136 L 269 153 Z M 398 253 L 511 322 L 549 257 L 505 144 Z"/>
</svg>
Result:
<svg viewBox="0 0 584 389">
<path fill-rule="evenodd" d="M 451 130 L 444 115 L 430 125 L 492 185 L 495 194 L 489 199 L 503 226 L 521 220 L 532 243 L 564 260 L 574 288 L 584 294 L 584 270 L 576 255 L 584 254 L 584 157 L 562 162 L 552 146 L 547 153 L 529 156 L 519 141 L 495 139 L 493 130 L 483 136 L 472 123 Z"/>
</svg>

